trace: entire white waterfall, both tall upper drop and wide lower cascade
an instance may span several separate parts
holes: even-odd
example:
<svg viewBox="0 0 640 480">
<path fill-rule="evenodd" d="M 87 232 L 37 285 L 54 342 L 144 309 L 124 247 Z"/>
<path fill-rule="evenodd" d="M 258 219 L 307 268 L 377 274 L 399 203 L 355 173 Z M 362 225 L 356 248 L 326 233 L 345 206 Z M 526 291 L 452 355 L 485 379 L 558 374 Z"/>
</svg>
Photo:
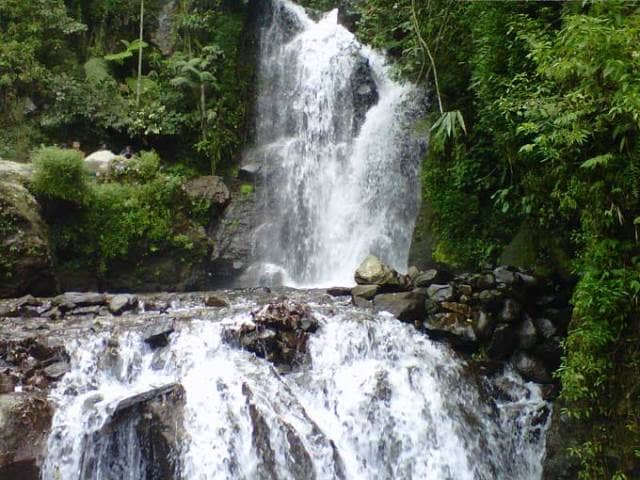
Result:
<svg viewBox="0 0 640 480">
<path fill-rule="evenodd" d="M 246 157 L 263 182 L 253 280 L 349 284 L 369 253 L 405 268 L 419 198 L 416 92 L 336 12 L 315 22 L 287 0 L 269 8 Z M 293 371 L 227 342 L 251 320 L 250 293 L 220 310 L 172 305 L 164 319 L 189 319 L 161 348 L 133 332 L 70 340 L 43 480 L 541 478 L 549 406 L 536 385 L 508 371 L 481 379 L 387 314 L 286 294 L 320 320 Z M 122 407 L 174 386 L 175 418 Z"/>
</svg>

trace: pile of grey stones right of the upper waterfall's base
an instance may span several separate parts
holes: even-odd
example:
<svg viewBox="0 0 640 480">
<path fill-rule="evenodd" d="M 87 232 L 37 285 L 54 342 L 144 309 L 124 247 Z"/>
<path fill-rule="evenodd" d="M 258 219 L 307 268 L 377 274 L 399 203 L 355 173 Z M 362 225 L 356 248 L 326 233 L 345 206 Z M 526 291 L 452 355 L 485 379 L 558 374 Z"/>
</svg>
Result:
<svg viewBox="0 0 640 480">
<path fill-rule="evenodd" d="M 552 383 L 571 319 L 566 296 L 512 267 L 473 274 L 401 275 L 369 256 L 355 274 L 353 303 L 387 311 L 435 340 L 488 360 L 511 361 L 526 379 Z"/>
</svg>

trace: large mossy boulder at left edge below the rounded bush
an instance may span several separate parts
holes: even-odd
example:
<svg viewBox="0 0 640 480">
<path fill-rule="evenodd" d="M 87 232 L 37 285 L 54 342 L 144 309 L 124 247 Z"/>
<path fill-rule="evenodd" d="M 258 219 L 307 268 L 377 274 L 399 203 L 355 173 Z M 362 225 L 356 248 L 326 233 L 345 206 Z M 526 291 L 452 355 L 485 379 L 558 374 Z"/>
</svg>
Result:
<svg viewBox="0 0 640 480">
<path fill-rule="evenodd" d="M 0 178 L 0 297 L 51 294 L 57 285 L 40 207 L 25 186 Z"/>
</svg>

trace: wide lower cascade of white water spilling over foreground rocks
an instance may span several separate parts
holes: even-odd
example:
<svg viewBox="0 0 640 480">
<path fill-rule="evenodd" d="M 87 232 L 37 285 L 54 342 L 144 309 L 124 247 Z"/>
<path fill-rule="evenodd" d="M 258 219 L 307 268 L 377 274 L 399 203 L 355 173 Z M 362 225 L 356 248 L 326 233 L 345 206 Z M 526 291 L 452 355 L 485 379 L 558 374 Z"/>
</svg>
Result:
<svg viewBox="0 0 640 480">
<path fill-rule="evenodd" d="M 540 479 L 537 386 L 507 374 L 510 398 L 492 399 L 448 347 L 339 302 L 313 306 L 320 328 L 308 361 L 282 373 L 223 341 L 249 309 L 196 318 L 156 351 L 135 334 L 73 342 L 43 479 Z M 183 429 L 177 467 L 161 476 L 137 429 L 157 420 L 112 415 L 121 400 L 172 382 L 185 391 L 184 405 L 170 407 Z"/>
</svg>

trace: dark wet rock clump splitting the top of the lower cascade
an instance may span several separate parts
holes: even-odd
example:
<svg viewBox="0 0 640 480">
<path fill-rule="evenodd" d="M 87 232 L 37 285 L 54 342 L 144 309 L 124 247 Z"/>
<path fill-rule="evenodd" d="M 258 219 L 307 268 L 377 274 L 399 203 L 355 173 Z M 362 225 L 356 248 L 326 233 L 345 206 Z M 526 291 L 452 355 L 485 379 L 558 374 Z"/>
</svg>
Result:
<svg viewBox="0 0 640 480">
<path fill-rule="evenodd" d="M 227 340 L 279 366 L 299 362 L 318 321 L 309 307 L 290 301 L 270 303 L 251 312 L 253 321 L 226 332 Z"/>
</svg>

